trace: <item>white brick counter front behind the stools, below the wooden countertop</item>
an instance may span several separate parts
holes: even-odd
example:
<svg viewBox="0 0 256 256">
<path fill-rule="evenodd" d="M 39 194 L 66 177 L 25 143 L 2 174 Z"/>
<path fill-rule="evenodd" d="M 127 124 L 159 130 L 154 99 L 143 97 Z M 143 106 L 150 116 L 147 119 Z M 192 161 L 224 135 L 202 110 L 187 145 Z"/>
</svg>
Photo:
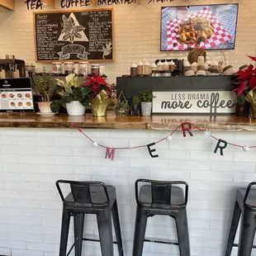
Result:
<svg viewBox="0 0 256 256">
<path fill-rule="evenodd" d="M 154 130 L 85 132 L 93 140 L 110 146 L 148 144 L 168 134 Z M 212 131 L 212 134 L 239 144 L 256 145 L 254 132 Z M 104 159 L 105 151 L 93 148 L 77 130 L 1 128 L 0 136 L 8 136 L 12 142 L 8 145 L 7 140 L 0 140 L 0 254 L 58 256 L 62 204 L 55 181 L 69 178 L 116 186 L 121 230 L 129 256 L 135 223 L 135 180 L 158 178 L 184 180 L 189 184 L 187 215 L 192 256 L 223 256 L 235 189 L 256 179 L 255 152 L 244 154 L 230 146 L 220 157 L 213 153 L 216 141 L 197 131 L 192 138 L 183 138 L 178 132 L 171 143 L 156 145 L 159 159 L 150 159 L 147 149 L 134 149 L 116 151 L 114 161 Z M 42 145 L 42 138 L 51 143 Z M 97 237 L 95 216 L 86 217 L 85 227 L 85 235 Z M 70 231 L 69 244 L 72 244 L 73 225 Z M 146 236 L 177 239 L 173 220 L 166 216 L 150 218 Z M 232 255 L 235 252 L 236 249 Z M 145 244 L 144 255 L 159 253 L 178 256 L 178 248 Z M 85 243 L 83 255 L 101 255 L 99 244 Z"/>
</svg>

